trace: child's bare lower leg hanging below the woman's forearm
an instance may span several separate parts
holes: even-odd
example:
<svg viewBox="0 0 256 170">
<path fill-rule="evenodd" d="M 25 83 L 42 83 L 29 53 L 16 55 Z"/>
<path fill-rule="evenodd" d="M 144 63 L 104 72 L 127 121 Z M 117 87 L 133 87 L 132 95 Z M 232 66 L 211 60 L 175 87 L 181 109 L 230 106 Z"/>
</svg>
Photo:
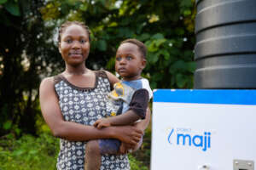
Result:
<svg viewBox="0 0 256 170">
<path fill-rule="evenodd" d="M 90 140 L 86 144 L 84 157 L 84 170 L 99 170 L 102 156 L 98 140 Z"/>
</svg>

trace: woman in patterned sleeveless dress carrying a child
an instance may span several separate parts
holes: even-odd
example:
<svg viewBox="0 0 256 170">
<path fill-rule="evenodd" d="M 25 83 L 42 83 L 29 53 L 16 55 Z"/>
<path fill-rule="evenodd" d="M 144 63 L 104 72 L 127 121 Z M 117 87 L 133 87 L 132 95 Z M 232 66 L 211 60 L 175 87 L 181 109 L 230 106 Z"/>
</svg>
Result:
<svg viewBox="0 0 256 170">
<path fill-rule="evenodd" d="M 91 126 L 106 115 L 106 99 L 113 83 L 108 71 L 91 71 L 85 61 L 90 52 L 90 31 L 83 23 L 67 21 L 59 31 L 59 51 L 65 71 L 45 78 L 40 85 L 40 105 L 45 122 L 60 140 L 57 169 L 84 169 L 84 144 L 91 139 L 119 139 L 136 147 L 148 125 L 147 118 L 135 126 Z M 85 141 L 85 143 L 83 142 Z M 126 153 L 130 148 L 120 150 Z M 102 156 L 101 169 L 130 169 L 126 155 Z"/>
</svg>

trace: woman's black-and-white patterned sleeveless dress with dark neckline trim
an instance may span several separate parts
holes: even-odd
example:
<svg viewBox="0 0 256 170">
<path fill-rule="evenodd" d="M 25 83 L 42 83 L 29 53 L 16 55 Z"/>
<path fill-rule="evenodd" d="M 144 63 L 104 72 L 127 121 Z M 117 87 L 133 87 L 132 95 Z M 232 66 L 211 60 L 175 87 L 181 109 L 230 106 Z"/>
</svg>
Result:
<svg viewBox="0 0 256 170">
<path fill-rule="evenodd" d="M 78 122 L 92 126 L 96 120 L 106 117 L 106 99 L 110 83 L 105 71 L 95 71 L 94 88 L 79 88 L 61 75 L 55 76 L 55 92 L 61 113 L 67 122 Z M 58 170 L 84 170 L 86 141 L 60 139 L 57 159 Z M 101 170 L 130 170 L 128 156 L 102 155 Z"/>
</svg>

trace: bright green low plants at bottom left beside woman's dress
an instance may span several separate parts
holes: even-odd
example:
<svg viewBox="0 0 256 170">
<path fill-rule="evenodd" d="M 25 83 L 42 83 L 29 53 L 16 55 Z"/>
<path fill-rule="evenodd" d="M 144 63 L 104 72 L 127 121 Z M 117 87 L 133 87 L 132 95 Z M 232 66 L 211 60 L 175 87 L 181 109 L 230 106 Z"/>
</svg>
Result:
<svg viewBox="0 0 256 170">
<path fill-rule="evenodd" d="M 55 169 L 58 139 L 47 133 L 38 138 L 23 135 L 15 140 L 11 134 L 0 138 L 0 169 Z"/>
</svg>

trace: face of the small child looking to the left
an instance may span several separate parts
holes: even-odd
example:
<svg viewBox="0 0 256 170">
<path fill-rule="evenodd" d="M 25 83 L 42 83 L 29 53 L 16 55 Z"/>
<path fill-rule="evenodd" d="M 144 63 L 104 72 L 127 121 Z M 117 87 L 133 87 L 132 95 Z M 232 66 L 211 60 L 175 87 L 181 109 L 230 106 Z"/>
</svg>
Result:
<svg viewBox="0 0 256 170">
<path fill-rule="evenodd" d="M 143 59 L 137 45 L 125 42 L 119 46 L 115 58 L 115 71 L 117 71 L 125 81 L 140 78 L 145 65 L 146 60 Z"/>
</svg>

